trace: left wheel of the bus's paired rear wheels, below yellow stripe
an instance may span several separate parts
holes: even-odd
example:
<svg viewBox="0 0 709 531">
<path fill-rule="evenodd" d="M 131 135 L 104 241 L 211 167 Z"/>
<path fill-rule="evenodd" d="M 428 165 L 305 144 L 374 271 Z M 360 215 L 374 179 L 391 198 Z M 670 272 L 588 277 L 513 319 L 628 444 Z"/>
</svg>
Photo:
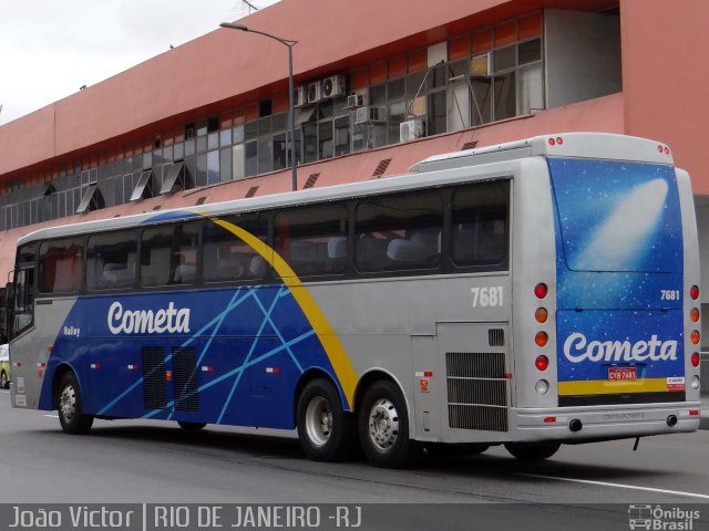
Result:
<svg viewBox="0 0 709 531">
<path fill-rule="evenodd" d="M 309 382 L 298 397 L 298 440 L 315 461 L 340 461 L 354 455 L 354 416 L 342 410 L 340 395 L 323 378 Z"/>
</svg>

